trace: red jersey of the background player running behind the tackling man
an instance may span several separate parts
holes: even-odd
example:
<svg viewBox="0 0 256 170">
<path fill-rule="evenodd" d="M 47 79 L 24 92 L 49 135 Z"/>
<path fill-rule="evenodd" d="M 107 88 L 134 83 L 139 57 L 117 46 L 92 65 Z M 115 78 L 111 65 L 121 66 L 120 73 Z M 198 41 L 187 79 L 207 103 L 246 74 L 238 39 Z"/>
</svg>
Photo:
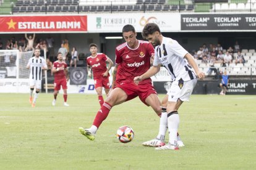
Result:
<svg viewBox="0 0 256 170">
<path fill-rule="evenodd" d="M 97 53 L 95 57 L 92 55 L 87 57 L 87 65 L 92 66 L 93 78 L 103 78 L 103 73 L 107 70 L 106 60 L 108 57 L 103 53 Z"/>
</svg>

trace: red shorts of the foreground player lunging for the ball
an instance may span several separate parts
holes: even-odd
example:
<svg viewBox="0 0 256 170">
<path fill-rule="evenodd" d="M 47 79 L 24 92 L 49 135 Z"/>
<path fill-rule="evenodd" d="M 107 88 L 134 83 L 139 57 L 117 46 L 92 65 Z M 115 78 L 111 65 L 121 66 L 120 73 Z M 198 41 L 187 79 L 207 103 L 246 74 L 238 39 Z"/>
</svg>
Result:
<svg viewBox="0 0 256 170">
<path fill-rule="evenodd" d="M 139 96 L 140 100 L 147 106 L 149 106 L 145 100 L 147 99 L 147 97 L 150 94 L 157 94 L 154 87 L 152 86 L 151 82 L 149 83 L 145 83 L 145 84 L 139 84 L 136 85 L 134 83 L 120 83 L 120 84 L 116 84 L 116 87 L 121 88 L 124 92 L 126 92 L 127 94 L 127 99 L 128 100 L 132 100 L 135 97 Z M 115 87 L 115 88 L 116 88 Z"/>
</svg>

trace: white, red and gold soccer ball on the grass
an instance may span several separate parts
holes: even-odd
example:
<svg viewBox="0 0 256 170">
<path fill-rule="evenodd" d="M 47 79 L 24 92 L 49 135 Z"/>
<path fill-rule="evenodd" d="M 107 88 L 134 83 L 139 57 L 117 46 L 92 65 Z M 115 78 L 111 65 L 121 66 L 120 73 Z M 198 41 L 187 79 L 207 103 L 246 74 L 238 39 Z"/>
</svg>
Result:
<svg viewBox="0 0 256 170">
<path fill-rule="evenodd" d="M 116 132 L 116 138 L 122 143 L 130 142 L 134 139 L 134 130 L 129 126 L 121 126 Z"/>
</svg>

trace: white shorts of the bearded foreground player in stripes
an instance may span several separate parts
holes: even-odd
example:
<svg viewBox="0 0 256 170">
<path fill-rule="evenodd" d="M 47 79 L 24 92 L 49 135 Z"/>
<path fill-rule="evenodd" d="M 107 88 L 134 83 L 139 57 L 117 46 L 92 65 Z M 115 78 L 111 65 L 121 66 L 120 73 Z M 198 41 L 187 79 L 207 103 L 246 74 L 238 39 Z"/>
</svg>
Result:
<svg viewBox="0 0 256 170">
<path fill-rule="evenodd" d="M 197 84 L 197 79 L 192 79 L 189 81 L 173 81 L 171 88 L 168 91 L 168 101 L 177 102 L 178 99 L 181 101 L 189 101 L 189 97 Z"/>
</svg>

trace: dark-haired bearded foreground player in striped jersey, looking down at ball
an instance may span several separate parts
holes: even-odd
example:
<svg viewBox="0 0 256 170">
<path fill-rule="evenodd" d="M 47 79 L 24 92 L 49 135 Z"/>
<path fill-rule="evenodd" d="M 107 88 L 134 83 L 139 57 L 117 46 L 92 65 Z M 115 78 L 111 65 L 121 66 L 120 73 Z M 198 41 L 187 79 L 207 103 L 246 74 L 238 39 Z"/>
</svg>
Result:
<svg viewBox="0 0 256 170">
<path fill-rule="evenodd" d="M 139 84 L 144 79 L 155 75 L 160 71 L 161 65 L 168 70 L 173 80 L 168 92 L 166 108 L 169 144 L 156 148 L 156 150 L 178 150 L 176 134 L 179 127 L 179 115 L 177 110 L 182 102 L 189 101 L 197 78 L 205 78 L 205 74 L 198 69 L 193 56 L 174 39 L 164 37 L 155 23 L 147 23 L 143 28 L 142 36 L 155 46 L 155 59 L 153 67 L 143 75 L 135 77 L 134 83 Z"/>
</svg>

